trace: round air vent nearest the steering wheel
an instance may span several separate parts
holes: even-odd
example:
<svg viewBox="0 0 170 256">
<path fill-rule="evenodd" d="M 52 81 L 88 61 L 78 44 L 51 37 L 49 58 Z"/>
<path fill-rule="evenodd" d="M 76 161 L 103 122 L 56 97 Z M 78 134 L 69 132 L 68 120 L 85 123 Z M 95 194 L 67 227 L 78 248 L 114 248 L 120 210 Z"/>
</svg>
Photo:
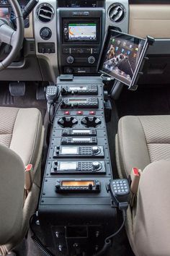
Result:
<svg viewBox="0 0 170 256">
<path fill-rule="evenodd" d="M 50 4 L 41 4 L 37 7 L 37 19 L 40 22 L 48 23 L 53 20 L 54 9 Z"/>
</svg>

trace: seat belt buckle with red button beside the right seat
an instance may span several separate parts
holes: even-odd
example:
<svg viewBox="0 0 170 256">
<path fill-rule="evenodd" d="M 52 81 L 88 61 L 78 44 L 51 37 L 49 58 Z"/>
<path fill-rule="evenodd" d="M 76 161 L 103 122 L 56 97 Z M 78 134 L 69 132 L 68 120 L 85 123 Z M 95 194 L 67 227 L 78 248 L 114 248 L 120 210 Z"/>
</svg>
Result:
<svg viewBox="0 0 170 256">
<path fill-rule="evenodd" d="M 131 179 L 131 184 L 130 184 L 130 191 L 132 192 L 132 197 L 130 200 L 130 205 L 133 207 L 135 196 L 138 193 L 138 186 L 139 186 L 139 181 L 140 181 L 140 175 L 141 175 L 141 170 L 133 167 L 131 174 L 130 174 L 130 179 Z"/>
</svg>

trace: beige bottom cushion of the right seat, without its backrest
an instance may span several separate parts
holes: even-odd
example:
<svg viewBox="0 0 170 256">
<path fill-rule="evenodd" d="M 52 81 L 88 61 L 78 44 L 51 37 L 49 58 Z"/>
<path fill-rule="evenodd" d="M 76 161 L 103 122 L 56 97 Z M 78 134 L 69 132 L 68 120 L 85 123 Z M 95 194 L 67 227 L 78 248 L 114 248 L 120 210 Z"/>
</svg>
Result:
<svg viewBox="0 0 170 256">
<path fill-rule="evenodd" d="M 117 168 L 128 176 L 133 167 L 170 160 L 170 116 L 124 116 L 116 138 Z"/>
</svg>

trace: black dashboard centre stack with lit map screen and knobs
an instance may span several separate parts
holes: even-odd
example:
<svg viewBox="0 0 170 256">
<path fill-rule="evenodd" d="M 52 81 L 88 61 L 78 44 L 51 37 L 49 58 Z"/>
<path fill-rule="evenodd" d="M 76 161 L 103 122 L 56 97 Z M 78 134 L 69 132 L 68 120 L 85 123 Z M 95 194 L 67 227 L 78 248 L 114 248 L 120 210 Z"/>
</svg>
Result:
<svg viewBox="0 0 170 256">
<path fill-rule="evenodd" d="M 61 74 L 96 74 L 104 37 L 104 8 L 58 8 L 58 63 Z"/>
</svg>

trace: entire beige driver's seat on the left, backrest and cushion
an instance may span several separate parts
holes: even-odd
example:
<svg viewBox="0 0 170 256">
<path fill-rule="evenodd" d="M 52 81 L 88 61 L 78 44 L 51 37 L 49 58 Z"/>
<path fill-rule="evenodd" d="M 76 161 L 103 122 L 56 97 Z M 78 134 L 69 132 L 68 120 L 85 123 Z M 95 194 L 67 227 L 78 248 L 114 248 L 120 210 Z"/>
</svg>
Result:
<svg viewBox="0 0 170 256">
<path fill-rule="evenodd" d="M 43 127 L 36 108 L 0 107 L 0 255 L 27 232 L 40 192 Z M 24 189 L 24 168 L 32 164 L 32 186 Z"/>
</svg>

